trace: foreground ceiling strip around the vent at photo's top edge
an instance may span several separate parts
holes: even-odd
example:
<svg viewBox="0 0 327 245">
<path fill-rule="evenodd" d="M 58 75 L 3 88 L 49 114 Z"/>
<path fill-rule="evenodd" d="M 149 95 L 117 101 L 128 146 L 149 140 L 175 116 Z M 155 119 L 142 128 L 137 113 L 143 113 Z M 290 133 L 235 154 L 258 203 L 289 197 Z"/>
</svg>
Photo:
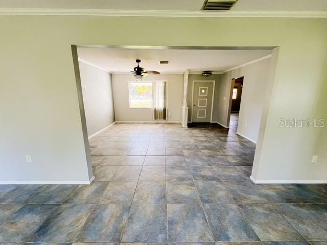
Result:
<svg viewBox="0 0 327 245">
<path fill-rule="evenodd" d="M 0 0 L 0 8 L 200 10 L 204 0 Z M 238 0 L 231 11 L 327 11 L 326 0 Z"/>
</svg>

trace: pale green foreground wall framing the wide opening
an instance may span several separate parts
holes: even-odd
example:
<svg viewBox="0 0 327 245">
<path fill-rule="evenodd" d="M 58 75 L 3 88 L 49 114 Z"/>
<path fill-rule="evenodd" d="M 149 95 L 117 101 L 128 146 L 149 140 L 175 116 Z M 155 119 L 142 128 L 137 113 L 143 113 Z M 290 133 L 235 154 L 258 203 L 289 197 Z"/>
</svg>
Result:
<svg viewBox="0 0 327 245">
<path fill-rule="evenodd" d="M 254 177 L 327 180 L 327 164 L 311 163 L 320 130 L 278 127 L 281 117 L 322 114 L 315 98 L 325 96 L 319 88 L 326 79 L 327 19 L 21 15 L 0 16 L 0 23 L 1 181 L 90 178 L 72 44 L 279 46 Z"/>
</svg>

